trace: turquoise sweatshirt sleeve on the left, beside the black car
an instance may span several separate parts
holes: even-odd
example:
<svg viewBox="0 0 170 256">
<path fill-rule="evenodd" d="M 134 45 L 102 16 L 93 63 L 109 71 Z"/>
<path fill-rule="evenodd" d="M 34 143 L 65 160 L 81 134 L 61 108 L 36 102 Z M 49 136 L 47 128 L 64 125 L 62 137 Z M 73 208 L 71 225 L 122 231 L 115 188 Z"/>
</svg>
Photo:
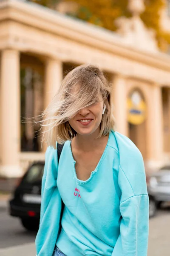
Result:
<svg viewBox="0 0 170 256">
<path fill-rule="evenodd" d="M 45 153 L 45 167 L 42 177 L 40 227 L 35 240 L 37 256 L 51 256 L 57 241 L 61 214 L 57 169 L 57 151 L 48 148 Z M 54 214 L 56 215 L 55 218 Z"/>
</svg>

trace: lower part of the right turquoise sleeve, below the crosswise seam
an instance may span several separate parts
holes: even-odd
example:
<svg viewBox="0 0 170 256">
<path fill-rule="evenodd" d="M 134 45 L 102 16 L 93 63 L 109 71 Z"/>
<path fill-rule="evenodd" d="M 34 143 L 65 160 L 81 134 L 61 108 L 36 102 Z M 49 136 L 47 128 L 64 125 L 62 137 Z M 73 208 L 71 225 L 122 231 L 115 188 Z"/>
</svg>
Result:
<svg viewBox="0 0 170 256">
<path fill-rule="evenodd" d="M 120 235 L 112 256 L 147 256 L 149 198 L 135 195 L 120 204 Z"/>
</svg>

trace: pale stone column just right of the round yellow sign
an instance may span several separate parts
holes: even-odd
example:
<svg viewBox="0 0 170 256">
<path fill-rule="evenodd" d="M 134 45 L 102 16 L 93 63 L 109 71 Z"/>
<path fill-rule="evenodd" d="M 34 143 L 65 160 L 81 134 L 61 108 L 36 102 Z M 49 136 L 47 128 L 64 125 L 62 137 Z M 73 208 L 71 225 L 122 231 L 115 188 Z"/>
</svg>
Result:
<svg viewBox="0 0 170 256">
<path fill-rule="evenodd" d="M 147 156 L 150 163 L 161 161 L 163 153 L 163 109 L 161 87 L 153 84 L 147 102 Z"/>
</svg>

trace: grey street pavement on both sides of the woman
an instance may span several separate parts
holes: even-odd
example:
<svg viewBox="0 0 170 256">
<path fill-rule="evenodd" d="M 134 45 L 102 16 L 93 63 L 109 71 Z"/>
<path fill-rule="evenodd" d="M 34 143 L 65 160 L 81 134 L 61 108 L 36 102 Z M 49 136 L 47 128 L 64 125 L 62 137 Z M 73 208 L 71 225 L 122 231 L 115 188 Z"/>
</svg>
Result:
<svg viewBox="0 0 170 256">
<path fill-rule="evenodd" d="M 28 232 L 20 220 L 8 215 L 6 203 L 0 204 L 0 256 L 35 256 L 36 232 Z M 170 255 L 170 207 L 150 219 L 148 256 Z"/>
</svg>

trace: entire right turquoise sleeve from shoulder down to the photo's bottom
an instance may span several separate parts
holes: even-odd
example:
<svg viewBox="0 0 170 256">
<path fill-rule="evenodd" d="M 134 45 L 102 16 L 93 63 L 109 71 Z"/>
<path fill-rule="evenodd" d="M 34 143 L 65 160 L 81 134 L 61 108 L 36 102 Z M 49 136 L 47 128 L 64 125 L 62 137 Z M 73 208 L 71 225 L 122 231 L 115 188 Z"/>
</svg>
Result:
<svg viewBox="0 0 170 256">
<path fill-rule="evenodd" d="M 141 152 L 127 137 L 116 133 L 119 148 L 118 183 L 120 234 L 112 256 L 147 256 L 149 198 Z"/>
</svg>

